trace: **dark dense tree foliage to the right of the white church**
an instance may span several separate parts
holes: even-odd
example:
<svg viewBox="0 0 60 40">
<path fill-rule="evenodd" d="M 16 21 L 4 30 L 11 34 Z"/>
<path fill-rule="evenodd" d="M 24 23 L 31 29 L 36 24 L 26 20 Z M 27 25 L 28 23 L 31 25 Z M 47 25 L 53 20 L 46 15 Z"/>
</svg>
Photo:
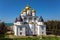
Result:
<svg viewBox="0 0 60 40">
<path fill-rule="evenodd" d="M 45 22 L 47 34 L 60 35 L 60 21 L 50 20 Z"/>
</svg>

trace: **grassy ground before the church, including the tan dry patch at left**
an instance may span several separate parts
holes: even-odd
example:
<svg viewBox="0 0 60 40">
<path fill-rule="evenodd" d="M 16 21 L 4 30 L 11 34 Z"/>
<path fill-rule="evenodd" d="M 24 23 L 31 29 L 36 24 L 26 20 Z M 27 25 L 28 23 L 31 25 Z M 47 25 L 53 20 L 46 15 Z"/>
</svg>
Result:
<svg viewBox="0 0 60 40">
<path fill-rule="evenodd" d="M 6 34 L 3 37 L 0 37 L 0 40 L 60 40 L 60 37 L 57 36 L 43 36 L 42 39 L 40 39 L 39 36 L 14 36 L 14 35 L 8 35 Z"/>
</svg>

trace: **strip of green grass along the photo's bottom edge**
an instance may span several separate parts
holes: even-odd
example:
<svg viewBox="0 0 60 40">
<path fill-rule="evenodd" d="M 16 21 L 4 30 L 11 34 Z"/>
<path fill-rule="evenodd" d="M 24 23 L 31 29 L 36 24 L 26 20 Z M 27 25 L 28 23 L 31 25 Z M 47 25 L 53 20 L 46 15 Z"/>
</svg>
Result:
<svg viewBox="0 0 60 40">
<path fill-rule="evenodd" d="M 60 37 L 45 36 L 45 37 L 42 37 L 42 39 L 40 39 L 40 37 L 28 36 L 28 37 L 19 37 L 19 38 L 0 38 L 0 40 L 60 40 Z"/>
</svg>

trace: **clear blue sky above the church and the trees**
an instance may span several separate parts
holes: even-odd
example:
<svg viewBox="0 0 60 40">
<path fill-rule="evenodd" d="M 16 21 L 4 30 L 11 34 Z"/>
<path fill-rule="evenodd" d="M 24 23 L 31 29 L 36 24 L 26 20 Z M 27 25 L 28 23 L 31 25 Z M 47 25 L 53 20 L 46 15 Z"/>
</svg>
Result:
<svg viewBox="0 0 60 40">
<path fill-rule="evenodd" d="M 60 0 L 0 0 L 0 20 L 14 22 L 27 4 L 44 20 L 60 20 Z"/>
</svg>

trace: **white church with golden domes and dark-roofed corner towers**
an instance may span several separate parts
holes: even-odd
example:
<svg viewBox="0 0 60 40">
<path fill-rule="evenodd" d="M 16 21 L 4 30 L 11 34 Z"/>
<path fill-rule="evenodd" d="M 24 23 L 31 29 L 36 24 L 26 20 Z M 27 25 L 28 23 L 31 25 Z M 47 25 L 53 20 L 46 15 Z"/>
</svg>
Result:
<svg viewBox="0 0 60 40">
<path fill-rule="evenodd" d="M 16 18 L 13 31 L 15 36 L 46 35 L 46 25 L 42 16 L 36 16 L 36 10 L 26 6 Z"/>
</svg>

